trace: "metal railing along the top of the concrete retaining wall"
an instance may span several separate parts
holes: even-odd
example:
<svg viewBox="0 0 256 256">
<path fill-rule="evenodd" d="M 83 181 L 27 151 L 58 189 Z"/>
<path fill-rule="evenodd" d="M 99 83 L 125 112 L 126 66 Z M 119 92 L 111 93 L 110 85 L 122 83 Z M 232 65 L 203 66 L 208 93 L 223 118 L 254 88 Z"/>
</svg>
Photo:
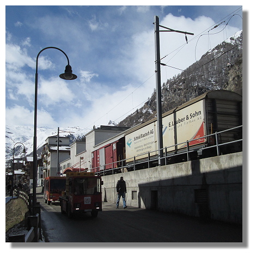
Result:
<svg viewBox="0 0 256 256">
<path fill-rule="evenodd" d="M 236 127 L 233 127 L 233 128 L 227 129 L 227 130 L 223 130 L 220 132 L 215 132 L 210 135 L 205 135 L 203 137 L 199 137 L 196 139 L 191 139 L 190 141 L 185 141 L 182 143 L 174 144 L 169 147 L 162 148 L 162 149 L 150 151 L 150 152 L 138 155 L 138 156 L 133 156 L 128 159 L 119 160 L 119 161 L 112 162 L 112 163 L 107 163 L 107 164 L 104 164 L 103 166 L 92 168 L 91 171 L 95 172 L 98 175 L 105 175 L 106 173 L 109 173 L 109 172 L 114 174 L 118 170 L 121 170 L 121 172 L 124 172 L 125 168 L 132 168 L 133 170 L 136 170 L 136 165 L 143 164 L 143 163 L 144 164 L 147 163 L 148 168 L 150 168 L 150 163 L 152 161 L 156 161 L 156 160 L 158 161 L 159 159 L 164 159 L 164 164 L 167 165 L 168 159 L 170 157 L 173 157 L 173 156 L 176 157 L 176 156 L 184 155 L 184 154 L 186 154 L 187 161 L 190 161 L 191 153 L 193 153 L 195 151 L 200 151 L 200 150 L 202 150 L 202 151 L 209 150 L 211 148 L 216 148 L 216 156 L 219 156 L 221 154 L 220 148 L 222 146 L 232 144 L 232 143 L 242 142 L 242 138 L 241 138 L 241 139 L 235 139 L 234 141 L 222 143 L 222 142 L 220 142 L 219 137 L 222 135 L 222 133 L 229 132 L 229 131 L 235 130 L 235 129 L 240 129 L 240 128 L 242 128 L 242 125 L 236 126 Z M 208 138 L 210 138 L 210 137 L 214 138 L 215 145 L 207 145 L 207 147 L 206 147 L 205 142 L 207 142 Z M 204 139 L 204 142 L 200 143 L 200 144 L 190 145 L 191 142 L 198 141 L 199 139 Z M 179 145 L 184 145 L 184 144 L 185 144 L 185 147 L 178 149 Z M 169 148 L 175 148 L 175 150 L 168 151 Z M 160 150 L 164 151 L 163 157 L 159 156 Z M 145 157 L 142 158 L 143 155 L 145 155 Z M 136 160 L 136 157 L 139 157 L 139 159 L 142 158 L 142 160 Z M 114 168 L 115 164 L 117 164 L 118 167 Z M 112 168 L 106 168 L 106 167 L 109 167 L 109 165 L 112 165 Z"/>
</svg>

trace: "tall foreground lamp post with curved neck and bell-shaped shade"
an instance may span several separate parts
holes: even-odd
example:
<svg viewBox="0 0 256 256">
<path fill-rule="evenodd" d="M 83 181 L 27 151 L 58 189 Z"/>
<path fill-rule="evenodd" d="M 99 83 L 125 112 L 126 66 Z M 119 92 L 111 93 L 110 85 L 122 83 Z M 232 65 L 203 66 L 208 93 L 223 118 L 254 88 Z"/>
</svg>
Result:
<svg viewBox="0 0 256 256">
<path fill-rule="evenodd" d="M 33 214 L 34 214 L 34 206 L 36 205 L 36 169 L 37 169 L 37 154 L 36 154 L 36 120 L 37 120 L 37 101 L 38 101 L 38 57 L 40 53 L 46 49 L 56 49 L 64 53 L 66 56 L 66 59 L 68 60 L 68 65 L 66 65 L 65 72 L 61 75 L 59 75 L 60 78 L 64 80 L 74 80 L 77 78 L 76 75 L 72 74 L 72 68 L 69 65 L 69 58 L 66 55 L 66 53 L 62 50 L 60 50 L 57 47 L 46 47 L 42 49 L 38 56 L 36 57 L 36 68 L 35 68 L 35 110 L 34 110 L 34 142 L 33 142 L 33 198 L 32 198 L 32 204 L 33 204 Z"/>
</svg>

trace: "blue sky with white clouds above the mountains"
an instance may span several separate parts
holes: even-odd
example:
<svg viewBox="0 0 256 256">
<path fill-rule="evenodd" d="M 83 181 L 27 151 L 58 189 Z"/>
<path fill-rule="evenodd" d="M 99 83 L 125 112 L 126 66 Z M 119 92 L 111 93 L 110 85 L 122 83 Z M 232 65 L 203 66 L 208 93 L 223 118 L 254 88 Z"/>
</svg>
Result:
<svg viewBox="0 0 256 256">
<path fill-rule="evenodd" d="M 68 55 L 78 78 L 59 78 L 67 64 L 62 52 L 47 49 L 40 54 L 38 127 L 89 131 L 109 120 L 118 123 L 142 107 L 156 87 L 155 15 L 162 26 L 194 33 L 187 35 L 188 44 L 184 34 L 160 33 L 161 57 L 166 56 L 162 63 L 178 69 L 242 29 L 241 5 L 7 5 L 6 124 L 33 126 L 35 59 L 49 46 Z M 163 67 L 161 83 L 179 74 L 178 69 Z"/>
</svg>

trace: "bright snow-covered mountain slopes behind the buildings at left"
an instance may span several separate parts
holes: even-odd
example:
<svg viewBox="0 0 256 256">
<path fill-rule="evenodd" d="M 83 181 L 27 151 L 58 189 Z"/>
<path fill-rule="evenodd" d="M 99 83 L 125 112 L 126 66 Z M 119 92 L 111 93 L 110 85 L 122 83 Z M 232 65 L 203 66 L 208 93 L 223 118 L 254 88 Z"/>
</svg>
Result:
<svg viewBox="0 0 256 256">
<path fill-rule="evenodd" d="M 65 132 L 63 132 L 65 131 Z M 66 127 L 59 128 L 59 136 L 70 137 L 70 142 L 74 142 L 76 139 L 81 139 L 88 129 L 81 127 Z M 36 129 L 37 137 L 37 149 L 40 149 L 45 144 L 45 140 L 50 136 L 57 136 L 58 129 L 51 129 L 48 127 L 38 127 Z M 29 126 L 5 126 L 5 160 L 13 158 L 13 147 L 15 143 L 23 143 L 26 148 L 26 156 L 33 155 L 33 137 L 34 127 Z M 23 146 L 18 143 L 15 146 L 15 157 L 23 157 Z"/>
</svg>

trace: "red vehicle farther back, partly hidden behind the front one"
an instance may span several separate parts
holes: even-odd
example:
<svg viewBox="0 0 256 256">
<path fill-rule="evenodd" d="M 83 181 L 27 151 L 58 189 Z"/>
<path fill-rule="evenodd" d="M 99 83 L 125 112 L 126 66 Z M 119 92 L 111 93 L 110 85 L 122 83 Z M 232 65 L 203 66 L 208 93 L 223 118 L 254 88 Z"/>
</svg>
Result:
<svg viewBox="0 0 256 256">
<path fill-rule="evenodd" d="M 49 176 L 44 180 L 44 199 L 45 203 L 59 201 L 62 191 L 65 191 L 66 177 Z"/>
</svg>

